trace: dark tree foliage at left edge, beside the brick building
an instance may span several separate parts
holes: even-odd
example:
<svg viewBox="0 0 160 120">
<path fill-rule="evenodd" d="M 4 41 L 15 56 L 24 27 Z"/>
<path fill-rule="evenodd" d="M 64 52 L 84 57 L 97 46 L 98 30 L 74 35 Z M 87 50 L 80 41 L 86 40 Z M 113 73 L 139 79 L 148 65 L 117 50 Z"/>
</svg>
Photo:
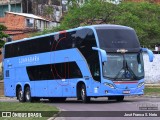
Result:
<svg viewBox="0 0 160 120">
<path fill-rule="evenodd" d="M 0 48 L 3 47 L 3 45 L 5 43 L 3 38 L 7 38 L 8 37 L 8 35 L 3 32 L 6 29 L 7 28 L 4 25 L 0 24 Z"/>
</svg>

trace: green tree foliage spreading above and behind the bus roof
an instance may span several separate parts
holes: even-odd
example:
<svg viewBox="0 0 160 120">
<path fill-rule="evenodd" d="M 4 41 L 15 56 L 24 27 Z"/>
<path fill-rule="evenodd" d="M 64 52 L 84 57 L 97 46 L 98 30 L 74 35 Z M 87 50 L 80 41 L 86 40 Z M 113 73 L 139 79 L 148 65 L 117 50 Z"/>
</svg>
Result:
<svg viewBox="0 0 160 120">
<path fill-rule="evenodd" d="M 73 0 L 74 1 L 74 0 Z M 133 27 L 141 45 L 154 47 L 160 43 L 160 6 L 148 2 L 122 2 L 119 5 L 105 0 L 90 0 L 83 6 L 71 6 L 58 30 L 92 24 L 120 24 Z"/>
</svg>

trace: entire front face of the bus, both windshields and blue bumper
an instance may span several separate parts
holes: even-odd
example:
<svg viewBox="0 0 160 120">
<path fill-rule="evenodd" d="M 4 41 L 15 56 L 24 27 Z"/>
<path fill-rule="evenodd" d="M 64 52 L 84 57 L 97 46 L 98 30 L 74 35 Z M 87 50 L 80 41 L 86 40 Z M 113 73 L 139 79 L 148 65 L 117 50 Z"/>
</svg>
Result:
<svg viewBox="0 0 160 120">
<path fill-rule="evenodd" d="M 97 27 L 100 49 L 107 53 L 101 62 L 101 95 L 142 95 L 144 63 L 135 31 L 128 27 Z"/>
</svg>

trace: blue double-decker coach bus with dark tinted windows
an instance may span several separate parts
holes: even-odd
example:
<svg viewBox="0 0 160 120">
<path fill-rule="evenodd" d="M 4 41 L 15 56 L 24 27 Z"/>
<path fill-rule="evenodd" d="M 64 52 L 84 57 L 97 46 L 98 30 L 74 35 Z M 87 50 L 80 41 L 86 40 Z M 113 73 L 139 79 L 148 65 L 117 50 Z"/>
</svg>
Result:
<svg viewBox="0 0 160 120">
<path fill-rule="evenodd" d="M 122 101 L 144 94 L 142 52 L 133 28 L 92 25 L 25 38 L 4 46 L 5 96 L 84 103 L 91 97 Z"/>
</svg>

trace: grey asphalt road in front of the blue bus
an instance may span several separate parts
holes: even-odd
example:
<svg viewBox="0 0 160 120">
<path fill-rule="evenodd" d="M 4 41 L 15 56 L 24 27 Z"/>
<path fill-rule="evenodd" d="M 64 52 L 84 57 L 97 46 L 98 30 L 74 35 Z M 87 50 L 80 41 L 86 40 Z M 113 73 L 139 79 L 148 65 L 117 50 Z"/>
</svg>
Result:
<svg viewBox="0 0 160 120">
<path fill-rule="evenodd" d="M 155 111 L 158 111 L 160 115 L 160 98 L 126 97 L 123 102 L 116 102 L 114 100 L 109 101 L 107 98 L 93 98 L 91 103 L 88 104 L 84 104 L 81 101 L 77 101 L 76 99 L 67 99 L 65 103 L 48 104 L 60 108 L 61 111 L 72 111 L 66 113 L 72 117 L 57 117 L 56 120 L 160 120 L 160 117 L 146 117 L 147 115 L 152 116 Z M 158 110 L 145 110 L 145 112 L 143 112 L 144 110 L 140 110 L 141 107 L 144 107 L 144 109 L 156 108 Z M 110 113 L 107 113 L 107 111 Z M 117 113 L 116 111 L 122 112 Z M 134 117 L 121 117 L 124 116 L 125 113 L 131 114 L 131 116 Z M 137 113 L 139 115 L 143 115 L 144 113 L 146 116 L 135 117 L 138 115 Z M 107 114 L 111 116 L 107 117 Z M 76 115 L 79 117 L 73 117 Z M 89 117 L 86 117 L 87 115 Z M 91 117 L 92 115 L 94 117 Z"/>
</svg>

